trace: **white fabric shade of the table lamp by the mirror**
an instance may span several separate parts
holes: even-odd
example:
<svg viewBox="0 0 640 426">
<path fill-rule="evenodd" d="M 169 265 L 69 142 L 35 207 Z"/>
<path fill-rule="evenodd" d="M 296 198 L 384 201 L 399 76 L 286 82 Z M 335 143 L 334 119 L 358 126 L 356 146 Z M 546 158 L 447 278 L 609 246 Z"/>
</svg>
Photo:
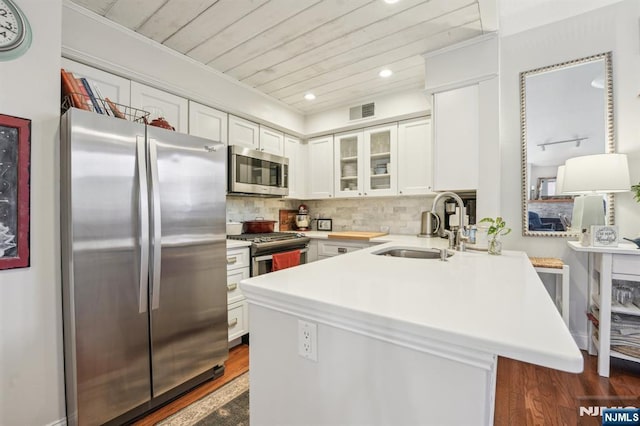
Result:
<svg viewBox="0 0 640 426">
<path fill-rule="evenodd" d="M 626 154 L 597 154 L 565 162 L 565 194 L 625 192 L 631 189 Z"/>
</svg>

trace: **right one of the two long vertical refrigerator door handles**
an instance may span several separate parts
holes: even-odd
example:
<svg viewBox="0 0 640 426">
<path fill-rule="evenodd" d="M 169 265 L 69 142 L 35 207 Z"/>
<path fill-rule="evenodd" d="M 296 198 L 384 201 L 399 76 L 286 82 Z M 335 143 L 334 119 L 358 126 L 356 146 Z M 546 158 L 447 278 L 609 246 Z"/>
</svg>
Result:
<svg viewBox="0 0 640 426">
<path fill-rule="evenodd" d="M 153 249 L 151 309 L 158 309 L 160 307 L 162 229 L 160 216 L 160 185 L 158 182 L 158 150 L 156 141 L 151 138 L 149 138 L 149 169 L 151 171 L 151 205 L 153 208 L 153 233 L 151 236 L 151 247 Z"/>
</svg>

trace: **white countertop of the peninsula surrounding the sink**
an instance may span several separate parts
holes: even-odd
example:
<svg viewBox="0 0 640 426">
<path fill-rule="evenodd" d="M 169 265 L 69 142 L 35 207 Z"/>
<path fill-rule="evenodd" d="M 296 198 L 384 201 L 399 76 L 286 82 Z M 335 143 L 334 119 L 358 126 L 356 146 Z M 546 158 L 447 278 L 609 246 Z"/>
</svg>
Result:
<svg viewBox="0 0 640 426">
<path fill-rule="evenodd" d="M 250 303 L 405 346 L 437 342 L 582 371 L 582 354 L 525 253 L 456 252 L 447 262 L 394 258 L 372 252 L 445 247 L 446 240 L 371 241 L 377 240 L 392 242 L 246 279 L 242 291 Z"/>
</svg>

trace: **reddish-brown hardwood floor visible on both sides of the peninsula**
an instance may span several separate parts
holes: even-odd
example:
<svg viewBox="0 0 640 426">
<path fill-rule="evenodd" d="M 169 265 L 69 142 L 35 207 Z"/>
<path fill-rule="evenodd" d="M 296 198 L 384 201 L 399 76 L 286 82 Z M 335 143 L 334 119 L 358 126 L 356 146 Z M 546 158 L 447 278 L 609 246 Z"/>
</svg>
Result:
<svg viewBox="0 0 640 426">
<path fill-rule="evenodd" d="M 600 425 L 601 417 L 580 416 L 580 407 L 640 407 L 640 366 L 612 359 L 611 377 L 597 373 L 597 358 L 583 352 L 582 374 L 570 374 L 500 358 L 496 426 Z M 231 349 L 224 376 L 207 382 L 135 423 L 150 426 L 249 371 L 249 346 Z"/>
</svg>

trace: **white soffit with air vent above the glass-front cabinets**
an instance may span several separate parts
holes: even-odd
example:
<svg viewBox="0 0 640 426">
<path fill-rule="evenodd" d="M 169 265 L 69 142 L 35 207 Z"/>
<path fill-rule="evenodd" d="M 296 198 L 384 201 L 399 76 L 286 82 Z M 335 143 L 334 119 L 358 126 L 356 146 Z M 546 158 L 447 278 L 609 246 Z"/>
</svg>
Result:
<svg viewBox="0 0 640 426">
<path fill-rule="evenodd" d="M 369 102 L 375 102 L 375 117 L 349 120 L 349 108 Z M 328 111 L 311 114 L 305 118 L 307 137 L 325 135 L 344 130 L 374 126 L 379 123 L 417 117 L 431 112 L 429 98 L 422 89 L 408 90 L 380 96 L 363 102 L 353 102 Z"/>
</svg>

